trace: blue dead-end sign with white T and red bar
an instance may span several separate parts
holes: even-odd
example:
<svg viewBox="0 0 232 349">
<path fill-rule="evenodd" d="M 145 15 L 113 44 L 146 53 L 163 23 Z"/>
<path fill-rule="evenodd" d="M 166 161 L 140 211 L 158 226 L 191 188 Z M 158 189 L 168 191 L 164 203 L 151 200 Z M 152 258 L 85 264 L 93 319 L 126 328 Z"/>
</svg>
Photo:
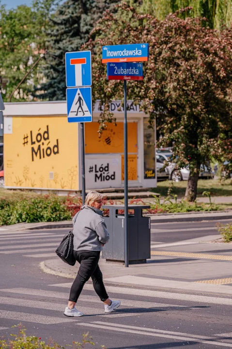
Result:
<svg viewBox="0 0 232 349">
<path fill-rule="evenodd" d="M 92 85 L 91 51 L 65 53 L 66 86 Z"/>
</svg>

